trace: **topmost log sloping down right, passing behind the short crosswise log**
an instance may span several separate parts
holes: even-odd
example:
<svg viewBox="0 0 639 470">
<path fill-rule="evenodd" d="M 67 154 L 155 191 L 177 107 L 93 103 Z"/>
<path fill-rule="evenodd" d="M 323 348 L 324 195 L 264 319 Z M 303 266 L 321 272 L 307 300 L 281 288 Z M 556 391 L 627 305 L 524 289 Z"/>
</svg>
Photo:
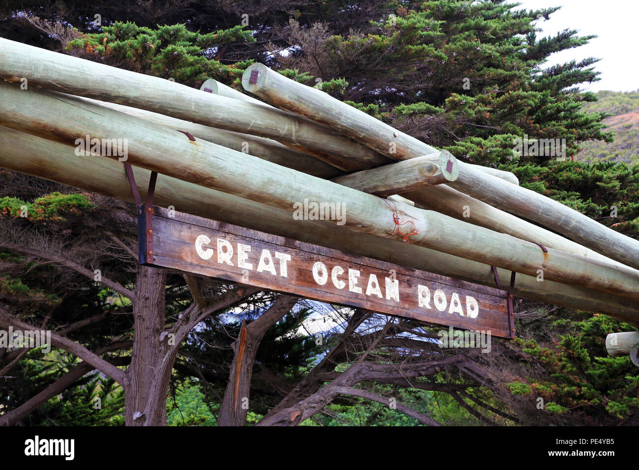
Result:
<svg viewBox="0 0 639 470">
<path fill-rule="evenodd" d="M 410 159 L 436 149 L 393 129 L 373 116 L 316 88 L 290 80 L 262 64 L 253 64 L 242 85 L 270 104 L 318 121 L 392 159 Z M 639 240 L 631 239 L 562 203 L 520 187 L 506 185 L 485 171 L 459 162 L 459 178 L 450 187 L 473 198 L 532 219 L 584 246 L 626 265 L 639 268 Z"/>
</svg>

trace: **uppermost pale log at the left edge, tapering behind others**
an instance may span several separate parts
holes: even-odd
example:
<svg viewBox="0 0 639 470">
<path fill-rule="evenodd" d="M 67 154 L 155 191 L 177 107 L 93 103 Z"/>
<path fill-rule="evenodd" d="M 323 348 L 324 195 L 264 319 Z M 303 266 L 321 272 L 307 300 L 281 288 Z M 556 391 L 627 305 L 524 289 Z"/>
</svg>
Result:
<svg viewBox="0 0 639 470">
<path fill-rule="evenodd" d="M 299 148 L 339 155 L 350 160 L 357 170 L 388 162 L 353 139 L 295 114 L 4 38 L 0 38 L 0 78 L 13 82 L 26 79 L 29 90 L 60 91 L 286 141 Z"/>
</svg>

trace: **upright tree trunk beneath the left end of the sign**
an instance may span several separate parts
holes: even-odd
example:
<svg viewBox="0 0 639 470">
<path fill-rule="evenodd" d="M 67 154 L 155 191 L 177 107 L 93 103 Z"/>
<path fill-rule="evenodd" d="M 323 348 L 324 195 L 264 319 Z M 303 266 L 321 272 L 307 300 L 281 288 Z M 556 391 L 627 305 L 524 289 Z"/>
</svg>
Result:
<svg viewBox="0 0 639 470">
<path fill-rule="evenodd" d="M 166 392 L 150 396 L 157 377 L 157 368 L 162 359 L 160 333 L 164 331 L 164 290 L 166 271 L 139 266 L 137 273 L 138 301 L 133 307 L 134 340 L 131 364 L 127 369 L 128 387 L 125 389 L 125 423 L 127 426 L 166 426 Z M 155 403 L 164 412 L 148 421 L 145 411 Z"/>
</svg>

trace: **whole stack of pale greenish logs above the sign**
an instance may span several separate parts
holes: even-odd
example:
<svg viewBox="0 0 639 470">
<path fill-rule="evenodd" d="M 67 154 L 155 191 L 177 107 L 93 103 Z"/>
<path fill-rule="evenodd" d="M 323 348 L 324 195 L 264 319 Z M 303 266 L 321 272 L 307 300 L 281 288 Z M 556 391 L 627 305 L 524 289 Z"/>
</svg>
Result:
<svg viewBox="0 0 639 470">
<path fill-rule="evenodd" d="M 482 285 L 495 266 L 519 297 L 639 325 L 638 240 L 264 65 L 242 77 L 258 100 L 0 38 L 0 77 L 2 168 L 132 200 L 121 155 L 77 153 L 125 139 L 158 205 Z M 293 220 L 304 200 L 345 224 Z"/>
</svg>

